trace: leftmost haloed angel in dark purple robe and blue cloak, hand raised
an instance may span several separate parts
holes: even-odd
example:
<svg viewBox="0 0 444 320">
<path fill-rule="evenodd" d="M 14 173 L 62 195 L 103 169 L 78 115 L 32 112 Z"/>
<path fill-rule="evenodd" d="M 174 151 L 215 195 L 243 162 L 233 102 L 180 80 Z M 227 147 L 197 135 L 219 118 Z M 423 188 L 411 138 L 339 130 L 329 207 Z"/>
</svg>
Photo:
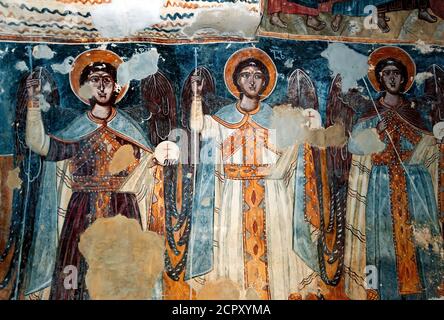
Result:
<svg viewBox="0 0 444 320">
<path fill-rule="evenodd" d="M 51 299 L 88 299 L 80 235 L 96 219 L 117 214 L 147 228 L 156 162 L 143 131 L 116 107 L 128 89 L 116 83 L 121 63 L 107 50 L 76 58 L 71 88 L 91 110 L 56 136 L 45 133 L 40 83 L 29 80 L 26 142 L 45 161 L 26 294 L 51 286 Z M 118 154 L 125 155 L 123 162 L 114 160 Z M 64 286 L 67 266 L 76 268 L 77 288 Z"/>
</svg>

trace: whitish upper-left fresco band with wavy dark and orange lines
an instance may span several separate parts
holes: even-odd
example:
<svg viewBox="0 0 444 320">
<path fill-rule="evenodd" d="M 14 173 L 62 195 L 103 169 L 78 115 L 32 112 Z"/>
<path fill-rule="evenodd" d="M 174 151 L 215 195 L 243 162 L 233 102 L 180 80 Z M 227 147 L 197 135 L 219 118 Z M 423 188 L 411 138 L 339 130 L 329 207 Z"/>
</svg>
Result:
<svg viewBox="0 0 444 320">
<path fill-rule="evenodd" d="M 2 0 L 0 38 L 91 41 L 150 41 L 255 37 L 258 0 Z M 233 23 L 230 24 L 229 21 Z"/>
</svg>

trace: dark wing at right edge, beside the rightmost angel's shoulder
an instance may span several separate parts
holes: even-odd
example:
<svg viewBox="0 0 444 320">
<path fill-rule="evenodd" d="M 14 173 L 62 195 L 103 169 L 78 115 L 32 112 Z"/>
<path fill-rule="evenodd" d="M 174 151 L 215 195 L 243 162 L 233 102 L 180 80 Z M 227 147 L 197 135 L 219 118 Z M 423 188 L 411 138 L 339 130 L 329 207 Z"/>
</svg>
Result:
<svg viewBox="0 0 444 320">
<path fill-rule="evenodd" d="M 427 69 L 427 72 L 433 76 L 426 79 L 424 93 L 434 101 L 431 116 L 435 124 L 444 120 L 444 69 L 434 64 Z"/>
</svg>

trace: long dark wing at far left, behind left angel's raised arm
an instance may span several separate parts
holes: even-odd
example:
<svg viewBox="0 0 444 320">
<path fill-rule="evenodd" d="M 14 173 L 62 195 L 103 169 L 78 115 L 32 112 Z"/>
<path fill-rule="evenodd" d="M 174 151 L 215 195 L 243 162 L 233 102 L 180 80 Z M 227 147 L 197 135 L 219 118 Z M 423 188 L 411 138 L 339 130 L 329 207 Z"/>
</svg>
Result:
<svg viewBox="0 0 444 320">
<path fill-rule="evenodd" d="M 0 254 L 0 263 L 12 254 L 9 270 L 0 282 L 0 290 L 11 288 L 11 298 L 17 298 L 24 290 L 25 268 L 30 258 L 30 248 L 34 237 L 34 217 L 36 204 L 41 192 L 42 158 L 32 153 L 25 143 L 28 78 L 39 79 L 41 83 L 41 107 L 45 130 L 51 130 L 51 120 L 60 103 L 57 84 L 51 73 L 42 67 L 24 74 L 17 90 L 17 105 L 14 119 L 15 151 L 14 165 L 20 168 L 22 187 L 14 191 L 13 214 L 6 247 Z M 36 230 L 37 231 L 37 230 Z M 14 252 L 11 253 L 11 249 Z"/>
</svg>

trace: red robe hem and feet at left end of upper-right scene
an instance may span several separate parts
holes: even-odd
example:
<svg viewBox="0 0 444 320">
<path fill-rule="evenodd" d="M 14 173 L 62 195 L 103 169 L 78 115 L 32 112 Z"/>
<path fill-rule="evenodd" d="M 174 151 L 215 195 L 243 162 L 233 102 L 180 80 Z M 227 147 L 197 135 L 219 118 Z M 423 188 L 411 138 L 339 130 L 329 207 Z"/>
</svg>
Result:
<svg viewBox="0 0 444 320">
<path fill-rule="evenodd" d="M 342 0 L 269 0 L 268 15 L 270 23 L 287 28 L 287 24 L 282 21 L 280 14 L 299 14 L 305 16 L 305 24 L 307 27 L 316 31 L 323 30 L 327 24 L 319 19 L 321 12 L 331 12 L 332 6 L 336 2 Z M 335 15 L 331 22 L 331 28 L 337 32 L 341 26 L 342 16 Z"/>
</svg>

